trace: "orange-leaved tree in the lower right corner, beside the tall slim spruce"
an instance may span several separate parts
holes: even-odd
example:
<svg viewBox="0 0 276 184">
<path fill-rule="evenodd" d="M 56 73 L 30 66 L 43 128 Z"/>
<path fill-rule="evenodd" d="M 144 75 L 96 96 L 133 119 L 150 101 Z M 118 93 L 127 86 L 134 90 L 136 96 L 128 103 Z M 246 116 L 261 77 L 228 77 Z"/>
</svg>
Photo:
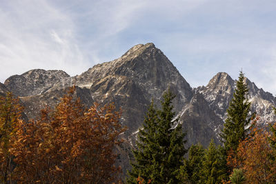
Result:
<svg viewBox="0 0 276 184">
<path fill-rule="evenodd" d="M 230 153 L 228 165 L 242 169 L 246 183 L 275 183 L 276 163 L 270 146 L 269 132 L 264 127 L 252 127 L 248 138 L 239 143 L 237 156 Z"/>
</svg>

